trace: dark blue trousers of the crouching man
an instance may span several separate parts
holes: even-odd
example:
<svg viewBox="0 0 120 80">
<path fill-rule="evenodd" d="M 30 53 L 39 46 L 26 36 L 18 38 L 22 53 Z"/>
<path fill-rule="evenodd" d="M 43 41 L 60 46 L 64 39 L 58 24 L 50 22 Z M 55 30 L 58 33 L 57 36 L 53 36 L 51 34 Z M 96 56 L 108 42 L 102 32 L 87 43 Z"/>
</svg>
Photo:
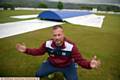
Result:
<svg viewBox="0 0 120 80">
<path fill-rule="evenodd" d="M 78 80 L 77 68 L 75 67 L 75 63 L 71 63 L 71 65 L 65 68 L 58 68 L 53 66 L 49 61 L 46 61 L 41 65 L 36 73 L 36 77 L 48 76 L 49 74 L 54 72 L 62 72 L 66 80 Z"/>
</svg>

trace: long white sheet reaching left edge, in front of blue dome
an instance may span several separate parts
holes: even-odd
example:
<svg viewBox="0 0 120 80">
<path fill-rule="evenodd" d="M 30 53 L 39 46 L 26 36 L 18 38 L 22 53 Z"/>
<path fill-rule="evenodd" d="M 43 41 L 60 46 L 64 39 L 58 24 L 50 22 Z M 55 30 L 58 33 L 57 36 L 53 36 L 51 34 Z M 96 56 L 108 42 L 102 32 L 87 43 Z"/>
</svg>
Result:
<svg viewBox="0 0 120 80">
<path fill-rule="evenodd" d="M 26 33 L 54 25 L 63 24 L 61 22 L 44 21 L 39 19 L 25 20 L 0 24 L 0 38 L 5 38 L 21 33 Z"/>
</svg>

